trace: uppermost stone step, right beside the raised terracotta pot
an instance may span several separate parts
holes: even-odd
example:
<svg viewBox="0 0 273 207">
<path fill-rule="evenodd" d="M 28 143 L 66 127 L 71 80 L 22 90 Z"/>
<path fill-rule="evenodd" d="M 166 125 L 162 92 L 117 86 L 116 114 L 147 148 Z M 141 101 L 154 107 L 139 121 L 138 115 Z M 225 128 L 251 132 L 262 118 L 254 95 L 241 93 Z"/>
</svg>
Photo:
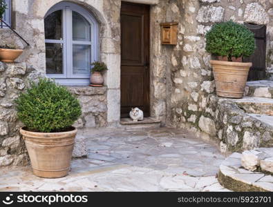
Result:
<svg viewBox="0 0 273 207">
<path fill-rule="evenodd" d="M 273 81 L 249 81 L 245 87 L 245 96 L 273 98 Z"/>
</svg>

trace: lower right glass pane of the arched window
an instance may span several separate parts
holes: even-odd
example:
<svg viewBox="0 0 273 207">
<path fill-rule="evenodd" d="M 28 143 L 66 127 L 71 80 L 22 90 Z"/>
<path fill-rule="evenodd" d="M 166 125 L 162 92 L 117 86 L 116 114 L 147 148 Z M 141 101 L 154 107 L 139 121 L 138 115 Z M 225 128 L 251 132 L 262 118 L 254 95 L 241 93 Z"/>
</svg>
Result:
<svg viewBox="0 0 273 207">
<path fill-rule="evenodd" d="M 73 45 L 73 74 L 90 73 L 91 46 Z"/>
</svg>

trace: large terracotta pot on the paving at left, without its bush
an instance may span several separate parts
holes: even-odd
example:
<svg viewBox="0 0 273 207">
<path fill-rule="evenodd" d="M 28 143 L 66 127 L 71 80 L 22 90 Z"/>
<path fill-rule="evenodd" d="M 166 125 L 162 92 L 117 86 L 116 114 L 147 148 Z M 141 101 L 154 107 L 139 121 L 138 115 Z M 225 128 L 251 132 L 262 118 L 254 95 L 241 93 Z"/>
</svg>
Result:
<svg viewBox="0 0 273 207">
<path fill-rule="evenodd" d="M 77 129 L 68 132 L 31 132 L 20 128 L 26 143 L 33 173 L 39 177 L 68 175 Z"/>
</svg>

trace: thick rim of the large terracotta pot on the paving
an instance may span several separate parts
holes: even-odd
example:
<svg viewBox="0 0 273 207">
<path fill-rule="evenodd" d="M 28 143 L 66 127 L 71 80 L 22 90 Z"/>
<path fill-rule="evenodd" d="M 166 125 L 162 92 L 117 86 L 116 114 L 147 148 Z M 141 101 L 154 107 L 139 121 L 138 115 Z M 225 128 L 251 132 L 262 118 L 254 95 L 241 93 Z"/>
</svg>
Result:
<svg viewBox="0 0 273 207">
<path fill-rule="evenodd" d="M 23 126 L 20 128 L 20 133 L 21 135 L 27 136 L 27 137 L 36 137 L 36 138 L 45 138 L 48 137 L 50 139 L 52 139 L 54 136 L 56 139 L 60 139 L 62 137 L 67 137 L 68 134 L 70 135 L 74 135 L 75 133 L 77 133 L 77 128 L 75 128 L 74 126 L 70 126 L 71 130 L 69 131 L 65 131 L 65 132 L 32 132 L 32 131 L 28 131 L 26 130 L 26 126 Z"/>
</svg>

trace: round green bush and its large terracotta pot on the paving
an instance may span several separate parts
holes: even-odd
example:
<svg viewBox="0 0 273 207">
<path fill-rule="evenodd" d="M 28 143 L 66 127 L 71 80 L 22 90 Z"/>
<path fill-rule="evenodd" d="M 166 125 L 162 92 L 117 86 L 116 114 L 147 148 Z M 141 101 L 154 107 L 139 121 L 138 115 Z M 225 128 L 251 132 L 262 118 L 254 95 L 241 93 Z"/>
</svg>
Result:
<svg viewBox="0 0 273 207">
<path fill-rule="evenodd" d="M 64 86 L 39 79 L 15 103 L 17 116 L 25 125 L 20 133 L 33 173 L 46 178 L 66 176 L 77 134 L 72 125 L 82 113 L 79 101 Z"/>
</svg>

